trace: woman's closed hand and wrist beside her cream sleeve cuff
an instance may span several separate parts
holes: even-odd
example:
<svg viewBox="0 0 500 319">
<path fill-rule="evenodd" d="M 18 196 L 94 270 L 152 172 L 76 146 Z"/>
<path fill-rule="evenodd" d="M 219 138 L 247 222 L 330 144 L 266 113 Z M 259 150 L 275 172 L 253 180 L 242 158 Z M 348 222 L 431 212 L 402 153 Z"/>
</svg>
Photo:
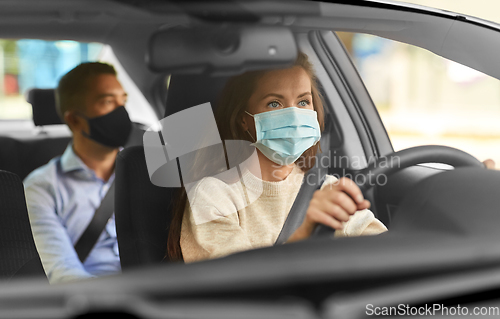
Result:
<svg viewBox="0 0 500 319">
<path fill-rule="evenodd" d="M 370 202 L 364 199 L 358 185 L 343 177 L 314 192 L 302 225 L 288 242 L 309 238 L 318 224 L 341 230 L 351 215 L 369 207 Z"/>
</svg>

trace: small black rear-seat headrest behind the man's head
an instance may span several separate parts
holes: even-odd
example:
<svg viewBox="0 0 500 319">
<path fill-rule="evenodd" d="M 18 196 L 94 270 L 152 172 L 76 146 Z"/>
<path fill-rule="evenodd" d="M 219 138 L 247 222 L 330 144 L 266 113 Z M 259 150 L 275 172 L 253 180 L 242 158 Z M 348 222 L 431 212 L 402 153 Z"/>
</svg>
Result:
<svg viewBox="0 0 500 319">
<path fill-rule="evenodd" d="M 33 109 L 33 122 L 36 126 L 63 124 L 56 111 L 54 89 L 31 89 L 27 100 Z"/>
</svg>

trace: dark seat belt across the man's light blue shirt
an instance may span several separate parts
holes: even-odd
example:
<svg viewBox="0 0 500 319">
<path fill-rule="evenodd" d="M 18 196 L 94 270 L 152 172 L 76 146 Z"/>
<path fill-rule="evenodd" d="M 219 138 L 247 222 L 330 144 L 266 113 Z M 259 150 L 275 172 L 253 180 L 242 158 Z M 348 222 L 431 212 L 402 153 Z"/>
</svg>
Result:
<svg viewBox="0 0 500 319">
<path fill-rule="evenodd" d="M 111 184 L 108 192 L 101 201 L 101 204 L 96 209 L 94 217 L 90 221 L 87 228 L 83 231 L 78 241 L 75 244 L 75 251 L 78 258 L 83 263 L 87 256 L 90 254 L 92 248 L 94 248 L 99 236 L 101 235 L 104 227 L 108 223 L 114 212 L 115 206 L 115 182 Z"/>
</svg>

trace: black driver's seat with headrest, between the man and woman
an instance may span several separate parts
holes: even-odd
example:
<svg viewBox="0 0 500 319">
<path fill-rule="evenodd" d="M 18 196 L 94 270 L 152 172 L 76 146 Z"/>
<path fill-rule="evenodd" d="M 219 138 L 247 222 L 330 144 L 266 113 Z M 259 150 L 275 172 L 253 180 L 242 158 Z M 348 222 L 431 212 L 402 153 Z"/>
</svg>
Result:
<svg viewBox="0 0 500 319">
<path fill-rule="evenodd" d="M 186 108 L 210 102 L 226 77 L 173 75 L 167 93 L 165 117 Z M 116 160 L 115 219 L 123 270 L 163 260 L 173 198 L 177 188 L 151 183 L 143 146 L 127 148 Z"/>
</svg>

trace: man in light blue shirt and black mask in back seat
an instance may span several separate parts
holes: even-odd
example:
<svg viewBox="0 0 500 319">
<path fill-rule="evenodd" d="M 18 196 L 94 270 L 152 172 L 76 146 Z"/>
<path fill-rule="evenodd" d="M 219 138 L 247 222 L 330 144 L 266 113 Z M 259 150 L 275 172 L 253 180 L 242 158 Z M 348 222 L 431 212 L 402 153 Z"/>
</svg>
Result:
<svg viewBox="0 0 500 319">
<path fill-rule="evenodd" d="M 114 181 L 116 155 L 132 128 L 124 108 L 127 94 L 111 65 L 92 62 L 80 64 L 61 78 L 56 100 L 72 141 L 62 156 L 24 180 L 33 236 L 45 272 L 51 283 L 117 273 L 120 259 L 114 214 L 88 257 L 79 257 L 74 245 Z"/>
</svg>

